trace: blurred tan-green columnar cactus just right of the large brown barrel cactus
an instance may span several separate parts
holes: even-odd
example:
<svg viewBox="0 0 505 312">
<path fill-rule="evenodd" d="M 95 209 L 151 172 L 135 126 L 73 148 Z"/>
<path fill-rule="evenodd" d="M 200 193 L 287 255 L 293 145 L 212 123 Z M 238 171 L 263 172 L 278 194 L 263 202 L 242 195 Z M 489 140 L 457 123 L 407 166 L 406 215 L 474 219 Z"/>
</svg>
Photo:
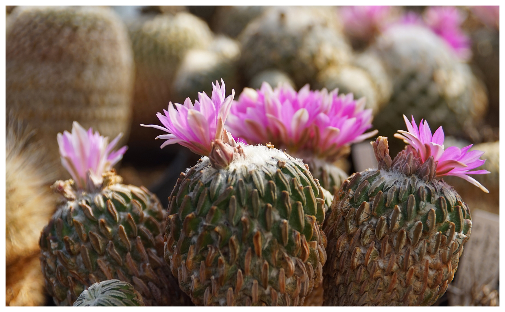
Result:
<svg viewBox="0 0 505 312">
<path fill-rule="evenodd" d="M 190 49 L 207 49 L 213 36 L 203 20 L 187 12 L 139 19 L 130 22 L 128 29 L 135 59 L 132 127 L 136 131 L 130 142 L 144 142 L 150 131 L 138 125 L 154 122 L 155 114 L 173 96 L 170 86 L 186 53 Z"/>
</svg>

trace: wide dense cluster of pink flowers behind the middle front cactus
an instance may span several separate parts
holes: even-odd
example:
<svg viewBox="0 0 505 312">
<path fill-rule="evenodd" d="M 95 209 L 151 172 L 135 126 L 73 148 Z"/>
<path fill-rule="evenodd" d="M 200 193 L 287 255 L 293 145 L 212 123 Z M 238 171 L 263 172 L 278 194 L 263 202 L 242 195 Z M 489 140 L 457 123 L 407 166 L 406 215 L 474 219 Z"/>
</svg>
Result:
<svg viewBox="0 0 505 312">
<path fill-rule="evenodd" d="M 342 146 L 377 133 L 364 134 L 372 127 L 372 110 L 363 109 L 364 104 L 338 90 L 311 91 L 306 85 L 296 92 L 288 84 L 272 89 L 263 83 L 259 90 L 245 88 L 233 102 L 226 127 L 249 144 L 273 143 L 290 152 L 331 157 Z"/>
</svg>

